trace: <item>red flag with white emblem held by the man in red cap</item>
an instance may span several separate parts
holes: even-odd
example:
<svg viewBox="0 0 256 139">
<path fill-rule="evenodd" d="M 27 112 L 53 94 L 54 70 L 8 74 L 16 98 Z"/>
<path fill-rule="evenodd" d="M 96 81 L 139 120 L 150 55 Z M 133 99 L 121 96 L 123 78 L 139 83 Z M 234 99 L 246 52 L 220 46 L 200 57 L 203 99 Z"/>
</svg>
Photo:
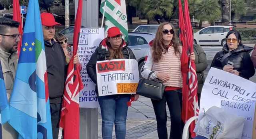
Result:
<svg viewBox="0 0 256 139">
<path fill-rule="evenodd" d="M 79 92 L 84 88 L 80 77 L 81 66 L 73 64 L 74 56 L 78 50 L 78 40 L 82 21 L 82 0 L 78 1 L 76 21 L 73 38 L 73 57 L 68 64 L 68 72 L 65 83 L 62 110 L 60 118 L 59 138 L 79 139 Z"/>
</svg>

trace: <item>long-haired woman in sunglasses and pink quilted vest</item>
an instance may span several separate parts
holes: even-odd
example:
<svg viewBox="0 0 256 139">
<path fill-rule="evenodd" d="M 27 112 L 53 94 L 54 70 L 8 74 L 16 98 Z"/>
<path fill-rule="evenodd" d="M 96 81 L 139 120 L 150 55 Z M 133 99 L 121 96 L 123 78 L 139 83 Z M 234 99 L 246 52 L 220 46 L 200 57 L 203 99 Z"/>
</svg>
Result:
<svg viewBox="0 0 256 139">
<path fill-rule="evenodd" d="M 181 139 L 182 73 L 188 69 L 188 56 L 176 40 L 173 25 L 167 22 L 160 24 L 150 46 L 150 52 L 141 70 L 142 76 L 147 78 L 151 71 L 155 71 L 150 75 L 150 79 L 158 78 L 166 86 L 162 99 L 151 99 L 156 114 L 158 137 L 168 138 L 167 102 L 172 123 L 170 139 Z M 190 60 L 195 60 L 194 53 L 190 54 Z"/>
</svg>

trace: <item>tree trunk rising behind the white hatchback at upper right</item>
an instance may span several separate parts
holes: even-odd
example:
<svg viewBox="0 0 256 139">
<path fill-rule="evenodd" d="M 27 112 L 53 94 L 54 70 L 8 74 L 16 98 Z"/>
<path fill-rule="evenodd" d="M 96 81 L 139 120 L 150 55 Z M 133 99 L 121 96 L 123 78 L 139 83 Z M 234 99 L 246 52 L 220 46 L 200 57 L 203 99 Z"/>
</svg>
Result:
<svg viewBox="0 0 256 139">
<path fill-rule="evenodd" d="M 229 23 L 229 0 L 221 0 L 221 14 L 222 14 L 222 24 L 228 25 L 228 23 Z"/>
</svg>

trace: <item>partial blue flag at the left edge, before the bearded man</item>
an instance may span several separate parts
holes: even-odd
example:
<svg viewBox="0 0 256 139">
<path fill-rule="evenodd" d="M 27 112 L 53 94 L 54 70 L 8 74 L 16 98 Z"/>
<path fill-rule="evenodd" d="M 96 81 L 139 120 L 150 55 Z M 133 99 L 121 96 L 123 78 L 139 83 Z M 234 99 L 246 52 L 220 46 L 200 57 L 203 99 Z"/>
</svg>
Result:
<svg viewBox="0 0 256 139">
<path fill-rule="evenodd" d="M 10 119 L 9 105 L 4 85 L 4 76 L 0 61 L 0 139 L 2 139 L 2 124 Z"/>
</svg>

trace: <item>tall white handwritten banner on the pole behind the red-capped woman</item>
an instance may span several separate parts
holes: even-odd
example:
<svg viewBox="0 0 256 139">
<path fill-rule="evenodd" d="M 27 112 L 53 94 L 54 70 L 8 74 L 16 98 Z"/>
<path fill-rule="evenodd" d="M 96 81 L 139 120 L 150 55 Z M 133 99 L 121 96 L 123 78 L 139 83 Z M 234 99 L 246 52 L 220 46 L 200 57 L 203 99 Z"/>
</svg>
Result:
<svg viewBox="0 0 256 139">
<path fill-rule="evenodd" d="M 84 89 L 79 93 L 80 107 L 99 107 L 98 97 L 95 92 L 95 83 L 92 82 L 86 71 L 86 64 L 89 62 L 95 49 L 104 39 L 104 28 L 81 28 L 78 44 L 79 61 L 82 65 L 81 77 Z"/>
</svg>

